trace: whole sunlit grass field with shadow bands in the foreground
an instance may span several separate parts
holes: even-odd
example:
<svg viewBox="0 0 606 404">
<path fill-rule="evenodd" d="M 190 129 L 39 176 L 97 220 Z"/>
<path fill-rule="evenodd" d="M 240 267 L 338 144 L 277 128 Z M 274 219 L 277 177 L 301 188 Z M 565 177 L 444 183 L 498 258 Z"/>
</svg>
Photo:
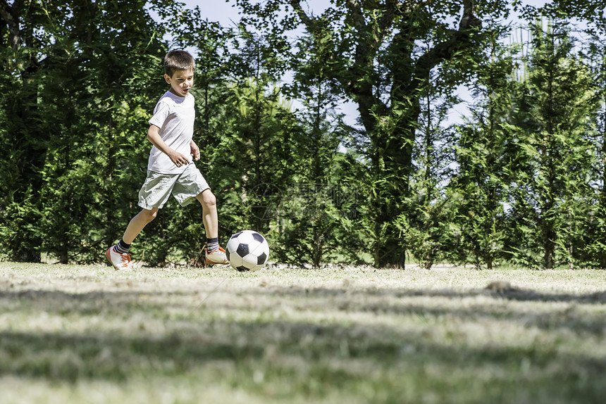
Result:
<svg viewBox="0 0 606 404">
<path fill-rule="evenodd" d="M 604 403 L 606 271 L 0 263 L 0 403 Z"/>
</svg>

